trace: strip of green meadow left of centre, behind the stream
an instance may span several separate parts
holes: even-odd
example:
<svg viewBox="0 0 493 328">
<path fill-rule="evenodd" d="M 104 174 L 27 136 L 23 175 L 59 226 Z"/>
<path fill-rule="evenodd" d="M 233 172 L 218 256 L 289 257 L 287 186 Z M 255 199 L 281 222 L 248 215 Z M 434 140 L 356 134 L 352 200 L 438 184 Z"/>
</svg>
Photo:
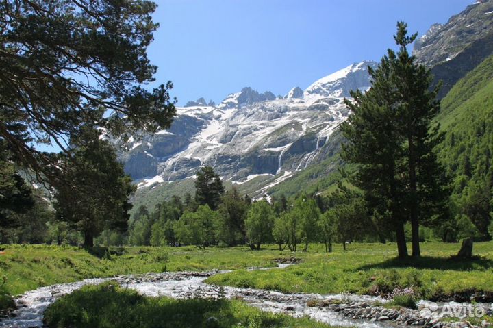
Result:
<svg viewBox="0 0 493 328">
<path fill-rule="evenodd" d="M 275 266 L 273 253 L 253 252 L 247 247 L 111 247 L 90 252 L 79 247 L 52 245 L 3 245 L 0 278 L 3 289 L 21 294 L 40 286 L 110 277 L 130 273 L 167 271 L 203 271 Z"/>
</svg>

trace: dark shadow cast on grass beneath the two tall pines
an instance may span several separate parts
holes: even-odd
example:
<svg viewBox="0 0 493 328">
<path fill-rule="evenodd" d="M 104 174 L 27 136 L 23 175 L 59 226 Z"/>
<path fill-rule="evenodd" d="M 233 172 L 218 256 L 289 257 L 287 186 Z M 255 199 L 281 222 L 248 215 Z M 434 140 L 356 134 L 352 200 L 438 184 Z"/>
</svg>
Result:
<svg viewBox="0 0 493 328">
<path fill-rule="evenodd" d="M 419 258 L 407 257 L 406 259 L 399 259 L 399 257 L 395 257 L 380 263 L 366 264 L 364 266 L 360 266 L 358 270 L 370 270 L 373 268 L 422 268 L 431 270 L 436 269 L 456 271 L 488 270 L 490 268 L 493 268 L 493 260 L 480 256 L 475 256 L 471 259 L 432 256 L 422 256 Z"/>
</svg>

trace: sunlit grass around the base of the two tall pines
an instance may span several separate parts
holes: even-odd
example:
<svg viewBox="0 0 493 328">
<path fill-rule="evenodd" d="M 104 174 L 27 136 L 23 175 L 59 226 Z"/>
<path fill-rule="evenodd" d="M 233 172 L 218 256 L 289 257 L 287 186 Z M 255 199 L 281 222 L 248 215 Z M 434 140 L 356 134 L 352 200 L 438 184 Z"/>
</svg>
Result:
<svg viewBox="0 0 493 328">
<path fill-rule="evenodd" d="M 474 260 L 451 258 L 459 244 L 423 243 L 422 258 L 405 261 L 396 259 L 395 248 L 395 244 L 350 244 L 348 251 L 342 251 L 337 245 L 333 253 L 296 253 L 304 262 L 286 270 L 238 270 L 207 282 L 319 294 L 390 293 L 412 287 L 418 297 L 426 299 L 493 292 L 493 242 L 476 243 L 475 253 L 481 257 Z"/>
</svg>

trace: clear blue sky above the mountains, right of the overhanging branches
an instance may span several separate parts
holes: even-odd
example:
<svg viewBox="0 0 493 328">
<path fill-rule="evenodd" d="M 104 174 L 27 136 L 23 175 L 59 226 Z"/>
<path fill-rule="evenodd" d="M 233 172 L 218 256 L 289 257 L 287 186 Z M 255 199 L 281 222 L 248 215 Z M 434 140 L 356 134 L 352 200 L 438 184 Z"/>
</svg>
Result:
<svg viewBox="0 0 493 328">
<path fill-rule="evenodd" d="M 286 94 L 353 62 L 379 60 L 397 21 L 424 34 L 472 0 L 157 0 L 149 47 L 179 105 L 244 86 Z"/>
</svg>

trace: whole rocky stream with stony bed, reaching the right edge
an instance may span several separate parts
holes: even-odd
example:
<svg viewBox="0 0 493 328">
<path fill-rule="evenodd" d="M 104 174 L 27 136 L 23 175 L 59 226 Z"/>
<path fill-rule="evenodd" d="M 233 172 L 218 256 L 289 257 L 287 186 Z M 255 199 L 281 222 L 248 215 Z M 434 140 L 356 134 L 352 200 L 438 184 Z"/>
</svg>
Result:
<svg viewBox="0 0 493 328">
<path fill-rule="evenodd" d="M 284 268 L 290 264 L 278 264 Z M 252 270 L 265 270 L 253 268 Z M 462 309 L 464 303 L 429 303 L 420 301 L 418 310 L 401 308 L 399 310 L 385 307 L 388 299 L 356 294 L 284 294 L 281 292 L 257 290 L 252 288 L 232 288 L 214 286 L 205 283 L 212 275 L 227 271 L 212 270 L 202 273 L 147 273 L 145 275 L 123 275 L 105 279 L 86 279 L 75 283 L 62 283 L 41 287 L 26 292 L 16 298 L 18 309 L 6 318 L 0 318 L 0 327 L 31 328 L 43 327 L 42 317 L 46 308 L 59 297 L 69 294 L 87 284 L 104 281 L 116 281 L 127 288 L 132 288 L 149 297 L 222 298 L 242 299 L 251 306 L 261 310 L 289 314 L 292 316 L 309 316 L 330 325 L 342 327 L 433 327 L 462 328 L 489 327 L 483 322 L 472 325 L 464 316 L 462 321 L 444 323 L 436 313 L 446 308 Z M 492 304 L 476 303 L 474 309 L 480 314 L 492 315 Z M 433 310 L 434 312 L 430 311 Z M 457 314 L 459 312 L 455 312 Z M 460 312 L 461 314 L 463 312 Z M 465 312 L 464 312 L 465 313 Z"/>
</svg>

